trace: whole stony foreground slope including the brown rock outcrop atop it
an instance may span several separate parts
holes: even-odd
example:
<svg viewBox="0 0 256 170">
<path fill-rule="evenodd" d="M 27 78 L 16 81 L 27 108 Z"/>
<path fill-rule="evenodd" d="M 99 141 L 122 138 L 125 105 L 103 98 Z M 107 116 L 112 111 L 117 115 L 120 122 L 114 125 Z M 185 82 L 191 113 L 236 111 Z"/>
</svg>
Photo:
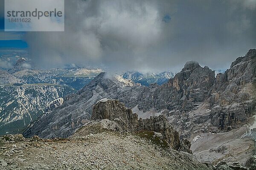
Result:
<svg viewBox="0 0 256 170">
<path fill-rule="evenodd" d="M 138 120 L 124 103 L 102 99 L 94 105 L 92 119 L 68 139 L 0 137 L 0 167 L 213 170 L 192 158 L 190 143 L 180 141 L 163 115 Z"/>
</svg>

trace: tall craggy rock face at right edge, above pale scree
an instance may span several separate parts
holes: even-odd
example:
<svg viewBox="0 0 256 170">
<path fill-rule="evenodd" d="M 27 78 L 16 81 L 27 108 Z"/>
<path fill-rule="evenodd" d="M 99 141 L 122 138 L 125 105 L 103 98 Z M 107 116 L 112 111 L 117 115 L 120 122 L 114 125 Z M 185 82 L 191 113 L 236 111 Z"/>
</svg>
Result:
<svg viewBox="0 0 256 170">
<path fill-rule="evenodd" d="M 253 116 L 256 106 L 256 50 L 232 62 L 230 69 L 218 74 L 210 91 L 212 124 L 230 130 Z"/>
</svg>

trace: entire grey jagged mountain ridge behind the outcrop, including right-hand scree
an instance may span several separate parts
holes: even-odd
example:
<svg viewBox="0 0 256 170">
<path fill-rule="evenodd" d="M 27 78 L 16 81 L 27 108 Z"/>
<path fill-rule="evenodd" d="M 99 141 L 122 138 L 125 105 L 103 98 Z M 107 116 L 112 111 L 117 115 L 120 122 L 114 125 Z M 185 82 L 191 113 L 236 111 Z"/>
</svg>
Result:
<svg viewBox="0 0 256 170">
<path fill-rule="evenodd" d="M 31 125 L 24 135 L 36 134 L 44 138 L 70 136 L 90 121 L 97 101 L 119 99 L 133 108 L 139 117 L 166 115 L 181 138 L 195 141 L 192 142 L 192 151 L 197 159 L 215 164 L 221 160 L 245 164 L 255 148 L 253 142 L 248 142 L 252 139 L 249 135 L 254 134 L 251 128 L 256 105 L 255 62 L 256 50 L 251 49 L 215 78 L 215 72 L 207 66 L 201 67 L 198 62 L 191 61 L 166 84 L 148 87 L 124 84 L 116 77 L 101 73 L 76 94 L 65 97 L 63 105 Z M 249 123 L 252 126 L 247 128 Z M 218 141 L 216 133 L 229 137 Z M 230 147 L 228 141 L 238 149 Z M 250 149 L 241 143 L 249 144 Z M 224 147 L 224 152 L 215 152 L 218 147 Z M 228 156 L 230 152 L 234 152 L 234 156 Z"/>
</svg>

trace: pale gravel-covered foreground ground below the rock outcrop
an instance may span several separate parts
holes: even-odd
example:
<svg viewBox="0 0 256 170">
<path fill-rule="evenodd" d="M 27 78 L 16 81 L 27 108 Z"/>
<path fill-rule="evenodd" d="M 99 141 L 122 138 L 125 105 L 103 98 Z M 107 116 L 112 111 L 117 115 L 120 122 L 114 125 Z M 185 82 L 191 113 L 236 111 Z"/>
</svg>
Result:
<svg viewBox="0 0 256 170">
<path fill-rule="evenodd" d="M 189 153 L 165 150 L 134 133 L 73 139 L 0 137 L 2 170 L 209 170 Z"/>
</svg>

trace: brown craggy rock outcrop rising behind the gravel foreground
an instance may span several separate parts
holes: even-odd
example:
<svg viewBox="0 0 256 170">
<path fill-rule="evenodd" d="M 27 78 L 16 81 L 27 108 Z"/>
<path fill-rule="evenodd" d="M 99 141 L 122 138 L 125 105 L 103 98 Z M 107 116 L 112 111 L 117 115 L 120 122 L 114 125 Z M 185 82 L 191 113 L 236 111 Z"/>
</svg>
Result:
<svg viewBox="0 0 256 170">
<path fill-rule="evenodd" d="M 189 149 L 191 146 L 190 142 L 187 140 L 180 141 L 179 133 L 173 129 L 164 115 L 151 116 L 150 119 L 138 119 L 137 113 L 132 113 L 132 110 L 126 108 L 124 103 L 118 100 L 101 99 L 93 107 L 91 120 L 97 122 L 89 122 L 84 125 L 84 130 L 87 130 L 87 132 L 91 130 L 88 130 L 86 126 L 93 126 L 89 129 L 94 129 L 94 131 L 96 128 L 129 133 L 154 131 L 161 133 L 163 140 L 165 140 L 171 148 L 192 153 Z M 98 130 L 96 130 L 96 132 L 98 132 Z"/>
</svg>

